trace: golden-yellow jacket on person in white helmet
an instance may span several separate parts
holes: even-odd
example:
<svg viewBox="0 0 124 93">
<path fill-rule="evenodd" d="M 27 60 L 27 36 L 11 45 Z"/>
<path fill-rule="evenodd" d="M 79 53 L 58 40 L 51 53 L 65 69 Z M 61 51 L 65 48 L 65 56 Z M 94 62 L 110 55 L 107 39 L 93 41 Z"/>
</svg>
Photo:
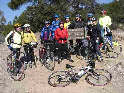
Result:
<svg viewBox="0 0 124 93">
<path fill-rule="evenodd" d="M 31 43 L 33 40 L 37 42 L 37 39 L 32 31 L 30 32 L 22 32 L 22 42 L 25 43 Z"/>
</svg>

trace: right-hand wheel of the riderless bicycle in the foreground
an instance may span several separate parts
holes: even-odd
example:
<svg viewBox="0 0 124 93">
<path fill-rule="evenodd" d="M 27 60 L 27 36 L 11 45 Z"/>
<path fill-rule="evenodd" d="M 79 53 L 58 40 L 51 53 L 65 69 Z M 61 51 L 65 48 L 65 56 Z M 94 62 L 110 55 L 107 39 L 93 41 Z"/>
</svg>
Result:
<svg viewBox="0 0 124 93">
<path fill-rule="evenodd" d="M 105 86 L 111 79 L 111 74 L 104 69 L 96 69 L 85 78 L 86 82 L 93 86 Z"/>
</svg>

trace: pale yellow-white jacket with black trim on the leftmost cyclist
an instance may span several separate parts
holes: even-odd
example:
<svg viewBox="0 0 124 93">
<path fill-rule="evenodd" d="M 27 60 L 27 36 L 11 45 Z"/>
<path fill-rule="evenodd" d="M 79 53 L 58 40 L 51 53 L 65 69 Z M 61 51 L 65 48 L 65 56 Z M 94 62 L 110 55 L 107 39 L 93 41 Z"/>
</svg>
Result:
<svg viewBox="0 0 124 93">
<path fill-rule="evenodd" d="M 12 48 L 20 48 L 22 43 L 21 33 L 10 31 L 10 33 L 5 37 L 5 42 L 7 45 L 10 45 Z"/>
</svg>

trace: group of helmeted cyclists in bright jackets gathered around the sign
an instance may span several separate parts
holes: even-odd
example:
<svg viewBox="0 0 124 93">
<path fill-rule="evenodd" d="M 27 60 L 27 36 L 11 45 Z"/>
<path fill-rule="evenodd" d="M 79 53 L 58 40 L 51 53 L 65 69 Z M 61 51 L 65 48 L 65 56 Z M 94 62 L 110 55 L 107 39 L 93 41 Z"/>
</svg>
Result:
<svg viewBox="0 0 124 93">
<path fill-rule="evenodd" d="M 87 15 L 87 22 L 85 23 L 80 14 L 77 14 L 75 16 L 74 21 L 70 21 L 70 16 L 65 15 L 65 21 L 61 21 L 58 14 L 54 15 L 54 21 L 50 22 L 49 20 L 45 21 L 45 26 L 41 29 L 41 41 L 48 42 L 49 40 L 53 40 L 56 42 L 56 47 L 58 47 L 58 59 L 61 57 L 61 52 L 66 51 L 67 53 L 67 59 L 70 62 L 74 62 L 71 59 L 71 55 L 67 40 L 68 40 L 68 29 L 76 29 L 76 28 L 84 28 L 86 27 L 86 32 L 84 37 L 89 38 L 92 40 L 92 45 L 94 47 L 94 52 L 96 52 L 101 58 L 102 55 L 99 51 L 99 44 L 104 44 L 104 37 L 107 36 L 107 38 L 111 41 L 111 47 L 112 46 L 112 32 L 109 29 L 109 26 L 111 23 L 111 18 L 107 16 L 107 12 L 105 10 L 102 10 L 101 12 L 102 16 L 97 20 L 94 17 L 93 13 L 88 13 Z M 106 29 L 106 30 L 105 30 Z M 30 29 L 29 24 L 20 25 L 15 24 L 14 25 L 14 31 L 11 31 L 5 38 L 5 41 L 7 43 L 8 48 L 13 51 L 14 54 L 16 54 L 16 57 L 19 58 L 19 52 L 21 46 L 26 46 L 27 44 L 31 43 L 32 41 L 35 41 L 36 44 L 38 44 L 38 41 L 34 35 L 34 33 Z M 73 40 L 69 41 L 70 44 L 73 44 Z M 80 42 L 79 39 L 76 40 L 76 42 Z M 24 48 L 25 52 L 26 49 Z M 33 49 L 30 49 L 33 51 Z M 58 60 L 60 61 L 60 60 Z"/>
</svg>

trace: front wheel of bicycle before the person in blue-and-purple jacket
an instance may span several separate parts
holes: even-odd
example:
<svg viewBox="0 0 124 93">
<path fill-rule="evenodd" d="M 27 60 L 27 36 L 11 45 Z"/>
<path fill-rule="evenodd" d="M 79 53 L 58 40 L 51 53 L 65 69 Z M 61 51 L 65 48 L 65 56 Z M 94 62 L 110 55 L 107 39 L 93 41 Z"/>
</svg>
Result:
<svg viewBox="0 0 124 93">
<path fill-rule="evenodd" d="M 43 65 L 48 69 L 53 71 L 55 68 L 55 58 L 54 53 L 50 52 L 50 56 L 48 57 L 47 53 L 45 52 L 43 55 Z"/>
</svg>

